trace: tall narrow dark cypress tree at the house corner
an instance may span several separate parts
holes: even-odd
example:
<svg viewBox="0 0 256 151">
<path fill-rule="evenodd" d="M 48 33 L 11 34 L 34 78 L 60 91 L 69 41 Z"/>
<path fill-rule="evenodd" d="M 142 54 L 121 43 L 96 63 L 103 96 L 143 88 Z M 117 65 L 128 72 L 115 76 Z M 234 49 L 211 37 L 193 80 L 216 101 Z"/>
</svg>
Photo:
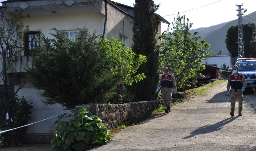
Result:
<svg viewBox="0 0 256 151">
<path fill-rule="evenodd" d="M 134 101 L 154 100 L 159 80 L 158 59 L 159 50 L 156 49 L 156 15 L 159 5 L 153 0 L 135 0 L 133 17 L 133 51 L 145 55 L 147 62 L 137 70 L 145 73 L 146 79 L 134 83 L 132 93 Z"/>
</svg>

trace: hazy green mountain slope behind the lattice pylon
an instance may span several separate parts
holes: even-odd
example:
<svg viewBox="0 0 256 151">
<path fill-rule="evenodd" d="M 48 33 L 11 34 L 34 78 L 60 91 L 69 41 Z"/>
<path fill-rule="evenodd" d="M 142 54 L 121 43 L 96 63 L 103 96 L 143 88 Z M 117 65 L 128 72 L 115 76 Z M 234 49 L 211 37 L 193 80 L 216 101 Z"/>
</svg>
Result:
<svg viewBox="0 0 256 151">
<path fill-rule="evenodd" d="M 244 15 L 244 17 L 245 18 L 242 18 L 243 23 L 248 23 L 248 22 L 255 23 L 256 11 L 251 14 Z M 250 21 L 246 18 L 253 20 L 255 22 Z M 206 40 L 209 44 L 211 44 L 212 47 L 208 49 L 208 51 L 213 51 L 215 53 L 218 53 L 221 49 L 223 49 L 222 54 L 224 54 L 224 53 L 229 53 L 225 44 L 227 30 L 229 29 L 230 26 L 235 24 L 238 24 L 237 19 L 229 22 L 221 23 L 215 26 L 211 26 L 211 27 L 193 29 L 193 30 L 190 30 L 190 32 L 192 33 L 199 32 L 199 35 L 202 36 L 203 39 Z M 245 53 L 246 53 L 246 48 L 245 48 Z"/>
</svg>

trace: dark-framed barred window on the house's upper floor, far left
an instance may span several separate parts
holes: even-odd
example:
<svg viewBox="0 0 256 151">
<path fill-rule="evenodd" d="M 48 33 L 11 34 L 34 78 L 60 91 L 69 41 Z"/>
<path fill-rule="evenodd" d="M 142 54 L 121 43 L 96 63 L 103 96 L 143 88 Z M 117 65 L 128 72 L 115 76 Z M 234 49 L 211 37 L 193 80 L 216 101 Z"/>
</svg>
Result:
<svg viewBox="0 0 256 151">
<path fill-rule="evenodd" d="M 40 46 L 39 45 L 40 32 L 27 32 L 25 33 L 24 40 L 25 40 L 24 54 L 27 56 L 35 52 L 36 48 Z"/>
</svg>

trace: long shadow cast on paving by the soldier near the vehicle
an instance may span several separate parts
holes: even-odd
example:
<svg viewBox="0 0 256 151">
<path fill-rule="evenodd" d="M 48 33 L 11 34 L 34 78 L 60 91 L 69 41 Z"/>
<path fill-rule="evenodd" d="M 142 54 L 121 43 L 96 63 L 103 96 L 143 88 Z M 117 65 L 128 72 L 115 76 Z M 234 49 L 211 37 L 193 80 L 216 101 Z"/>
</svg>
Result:
<svg viewBox="0 0 256 151">
<path fill-rule="evenodd" d="M 215 132 L 215 131 L 219 131 L 223 128 L 224 125 L 230 123 L 231 121 L 235 120 L 238 117 L 238 115 L 236 117 L 229 117 L 227 119 L 224 119 L 222 121 L 219 121 L 215 124 L 207 124 L 204 125 L 203 127 L 200 127 L 198 129 L 196 129 L 195 131 L 191 132 L 189 136 L 184 137 L 183 139 L 189 139 L 191 137 L 194 137 L 196 135 L 200 135 L 200 134 L 206 134 L 206 133 L 211 133 L 211 132 Z"/>
</svg>

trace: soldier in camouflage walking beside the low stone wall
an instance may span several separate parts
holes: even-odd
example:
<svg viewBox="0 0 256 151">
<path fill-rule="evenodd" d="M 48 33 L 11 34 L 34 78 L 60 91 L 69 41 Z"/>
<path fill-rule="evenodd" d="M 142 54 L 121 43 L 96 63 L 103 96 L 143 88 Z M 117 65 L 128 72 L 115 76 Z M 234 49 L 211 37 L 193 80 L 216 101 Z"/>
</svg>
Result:
<svg viewBox="0 0 256 151">
<path fill-rule="evenodd" d="M 174 93 L 177 92 L 175 78 L 171 73 L 168 72 L 168 70 L 169 69 L 167 67 L 163 67 L 162 71 L 164 74 L 161 76 L 157 87 L 157 90 L 162 87 L 161 93 L 163 101 L 167 107 L 165 110 L 165 113 L 167 114 L 171 111 L 172 90 L 174 89 Z"/>
</svg>

